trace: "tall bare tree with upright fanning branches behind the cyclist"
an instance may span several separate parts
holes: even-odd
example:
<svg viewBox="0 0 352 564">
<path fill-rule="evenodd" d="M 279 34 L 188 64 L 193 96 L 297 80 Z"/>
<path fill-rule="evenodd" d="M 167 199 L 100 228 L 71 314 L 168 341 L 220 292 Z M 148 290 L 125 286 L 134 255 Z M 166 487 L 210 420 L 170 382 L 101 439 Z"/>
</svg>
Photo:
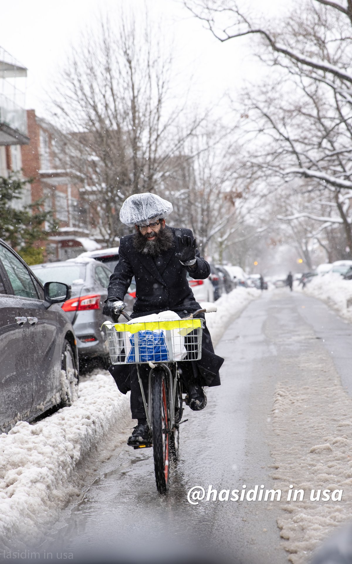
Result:
<svg viewBox="0 0 352 564">
<path fill-rule="evenodd" d="M 61 72 L 54 104 L 65 132 L 63 160 L 86 178 L 83 195 L 108 245 L 124 232 L 118 221 L 124 199 L 157 190 L 202 121 L 184 115 L 185 96 L 171 89 L 171 64 L 148 22 L 141 29 L 122 17 L 82 37 Z"/>
</svg>

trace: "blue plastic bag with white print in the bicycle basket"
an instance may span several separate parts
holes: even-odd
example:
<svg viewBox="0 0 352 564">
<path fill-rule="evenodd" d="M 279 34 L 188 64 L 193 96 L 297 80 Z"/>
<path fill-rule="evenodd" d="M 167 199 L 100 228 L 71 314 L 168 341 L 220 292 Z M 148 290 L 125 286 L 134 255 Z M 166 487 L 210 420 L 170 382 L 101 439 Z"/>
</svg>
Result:
<svg viewBox="0 0 352 564">
<path fill-rule="evenodd" d="M 127 356 L 127 363 L 134 363 L 134 334 L 130 336 L 131 350 Z M 164 331 L 138 332 L 139 362 L 167 362 L 169 351 L 165 342 Z"/>
</svg>

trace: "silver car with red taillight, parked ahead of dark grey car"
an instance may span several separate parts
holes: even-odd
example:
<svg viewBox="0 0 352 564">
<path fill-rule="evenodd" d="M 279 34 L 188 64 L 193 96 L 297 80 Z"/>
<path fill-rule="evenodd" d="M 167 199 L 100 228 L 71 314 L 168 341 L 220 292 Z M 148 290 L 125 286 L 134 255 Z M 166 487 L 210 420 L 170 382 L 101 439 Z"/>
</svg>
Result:
<svg viewBox="0 0 352 564">
<path fill-rule="evenodd" d="M 102 313 L 111 270 L 93 258 L 77 257 L 33 266 L 33 272 L 42 283 L 54 278 L 71 285 L 72 298 L 62 304 L 62 309 L 76 333 L 78 355 L 85 360 L 99 357 L 108 365 L 109 352 L 101 327 L 104 321 L 111 321 Z M 135 292 L 135 288 L 132 287 L 130 291 Z M 135 293 L 134 296 L 127 293 L 127 312 L 132 311 L 134 301 Z"/>
</svg>

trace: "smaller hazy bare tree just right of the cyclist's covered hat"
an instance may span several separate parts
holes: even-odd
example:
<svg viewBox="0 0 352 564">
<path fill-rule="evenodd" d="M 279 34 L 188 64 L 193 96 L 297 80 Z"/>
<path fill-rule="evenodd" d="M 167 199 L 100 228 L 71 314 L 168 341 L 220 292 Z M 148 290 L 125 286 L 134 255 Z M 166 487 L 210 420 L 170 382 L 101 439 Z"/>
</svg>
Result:
<svg viewBox="0 0 352 564">
<path fill-rule="evenodd" d="M 222 262 L 229 245 L 262 229 L 256 179 L 243 166 L 239 130 L 210 124 L 188 139 L 179 156 L 179 177 L 170 175 L 164 191 L 174 204 L 172 221 L 189 226 L 202 253 Z M 191 156 L 191 157 L 187 157 Z M 245 235 L 241 228 L 253 221 Z"/>
</svg>

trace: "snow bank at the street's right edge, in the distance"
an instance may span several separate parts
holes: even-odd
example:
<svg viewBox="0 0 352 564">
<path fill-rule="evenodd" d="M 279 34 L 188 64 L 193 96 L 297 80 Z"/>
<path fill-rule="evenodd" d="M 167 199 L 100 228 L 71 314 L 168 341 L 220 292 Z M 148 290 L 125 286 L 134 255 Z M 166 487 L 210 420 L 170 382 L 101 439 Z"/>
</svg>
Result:
<svg viewBox="0 0 352 564">
<path fill-rule="evenodd" d="M 352 280 L 344 280 L 340 274 L 329 272 L 324 276 L 315 276 L 303 292 L 322 299 L 341 317 L 352 323 Z"/>
</svg>

